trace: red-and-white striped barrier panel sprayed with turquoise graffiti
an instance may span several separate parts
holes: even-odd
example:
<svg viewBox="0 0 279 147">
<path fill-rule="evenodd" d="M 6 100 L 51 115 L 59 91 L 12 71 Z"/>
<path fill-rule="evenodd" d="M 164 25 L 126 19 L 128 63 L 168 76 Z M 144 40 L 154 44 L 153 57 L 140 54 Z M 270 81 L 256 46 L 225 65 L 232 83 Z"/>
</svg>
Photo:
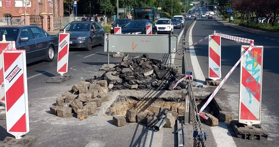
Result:
<svg viewBox="0 0 279 147">
<path fill-rule="evenodd" d="M 249 46 L 241 46 L 242 54 Z M 254 46 L 240 62 L 238 122 L 260 124 L 263 47 Z"/>
</svg>

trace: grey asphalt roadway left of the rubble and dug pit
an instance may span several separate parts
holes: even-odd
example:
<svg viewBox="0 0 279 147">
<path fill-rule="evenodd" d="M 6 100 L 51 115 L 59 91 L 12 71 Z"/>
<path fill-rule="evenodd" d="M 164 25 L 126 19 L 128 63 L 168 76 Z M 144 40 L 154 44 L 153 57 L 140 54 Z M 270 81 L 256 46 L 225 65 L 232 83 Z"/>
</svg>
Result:
<svg viewBox="0 0 279 147">
<path fill-rule="evenodd" d="M 182 30 L 175 29 L 174 34 L 179 34 Z M 110 63 L 121 62 L 122 58 L 113 58 L 112 55 L 109 55 Z M 165 54 L 149 55 L 157 59 L 165 57 Z M 104 47 L 95 46 L 91 51 L 70 49 L 69 68 L 65 75 L 71 75 L 73 78 L 61 84 L 46 83 L 48 78 L 58 74 L 57 54 L 53 62 L 27 65 L 28 100 L 31 107 L 30 131 L 26 135 L 36 136 L 36 147 L 172 147 L 175 144 L 174 128 L 154 134 L 153 128 L 138 123 L 116 127 L 112 124 L 112 116 L 91 116 L 79 121 L 76 118 L 64 119 L 50 114 L 49 106 L 55 103 L 56 98 L 70 90 L 74 84 L 102 75 L 104 72 L 99 71 L 99 68 L 107 63 L 108 54 L 104 52 Z M 0 120 L 0 142 L 11 136 L 5 128 L 5 120 Z"/>
</svg>

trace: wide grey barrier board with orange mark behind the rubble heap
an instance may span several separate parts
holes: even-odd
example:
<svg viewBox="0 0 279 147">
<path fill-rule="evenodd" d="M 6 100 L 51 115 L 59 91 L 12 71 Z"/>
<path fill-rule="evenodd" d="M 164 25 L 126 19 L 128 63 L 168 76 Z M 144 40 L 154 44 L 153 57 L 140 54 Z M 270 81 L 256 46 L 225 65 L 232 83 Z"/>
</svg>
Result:
<svg viewBox="0 0 279 147">
<path fill-rule="evenodd" d="M 176 53 L 177 35 L 109 34 L 105 37 L 105 52 Z M 123 43 L 125 41 L 125 43 Z"/>
</svg>

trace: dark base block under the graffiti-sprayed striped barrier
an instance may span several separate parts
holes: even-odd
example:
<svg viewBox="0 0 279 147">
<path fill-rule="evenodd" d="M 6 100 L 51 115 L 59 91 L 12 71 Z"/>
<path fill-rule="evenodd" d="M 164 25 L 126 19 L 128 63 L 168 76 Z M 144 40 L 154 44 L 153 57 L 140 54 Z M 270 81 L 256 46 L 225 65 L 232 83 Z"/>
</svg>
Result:
<svg viewBox="0 0 279 147">
<path fill-rule="evenodd" d="M 231 122 L 232 129 L 238 138 L 242 139 L 256 139 L 256 140 L 266 140 L 267 132 L 260 125 L 255 124 L 248 127 L 246 124 L 238 123 L 238 121 Z"/>
</svg>

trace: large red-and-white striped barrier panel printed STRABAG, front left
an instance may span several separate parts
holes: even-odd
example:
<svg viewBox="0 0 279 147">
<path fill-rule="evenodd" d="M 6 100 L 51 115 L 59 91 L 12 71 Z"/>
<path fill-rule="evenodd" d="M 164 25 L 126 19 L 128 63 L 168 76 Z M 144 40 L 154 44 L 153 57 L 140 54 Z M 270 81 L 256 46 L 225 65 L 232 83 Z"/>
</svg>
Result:
<svg viewBox="0 0 279 147">
<path fill-rule="evenodd" d="M 25 50 L 4 50 L 3 61 L 7 132 L 20 139 L 29 132 Z"/>
</svg>

